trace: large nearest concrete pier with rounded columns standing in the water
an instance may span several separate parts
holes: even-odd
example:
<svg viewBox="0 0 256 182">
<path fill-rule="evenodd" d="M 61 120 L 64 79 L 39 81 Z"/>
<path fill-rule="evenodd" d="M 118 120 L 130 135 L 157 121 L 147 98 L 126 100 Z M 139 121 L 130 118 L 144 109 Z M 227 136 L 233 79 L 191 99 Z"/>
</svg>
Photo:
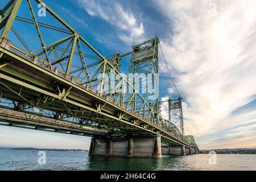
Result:
<svg viewBox="0 0 256 182">
<path fill-rule="evenodd" d="M 162 158 L 161 137 L 92 138 L 89 155 Z"/>
</svg>

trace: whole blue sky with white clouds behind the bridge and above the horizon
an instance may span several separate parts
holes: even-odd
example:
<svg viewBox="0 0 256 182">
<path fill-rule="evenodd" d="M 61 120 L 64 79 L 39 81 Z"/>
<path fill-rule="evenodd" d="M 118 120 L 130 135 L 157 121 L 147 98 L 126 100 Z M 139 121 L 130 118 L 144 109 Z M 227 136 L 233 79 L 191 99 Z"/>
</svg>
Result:
<svg viewBox="0 0 256 182">
<path fill-rule="evenodd" d="M 200 149 L 256 148 L 255 0 L 44 2 L 104 56 L 158 35 L 183 97 L 185 134 Z M 177 96 L 164 64 L 159 55 L 160 100 Z M 88 149 L 89 141 L 0 126 L 0 146 Z"/>
</svg>

